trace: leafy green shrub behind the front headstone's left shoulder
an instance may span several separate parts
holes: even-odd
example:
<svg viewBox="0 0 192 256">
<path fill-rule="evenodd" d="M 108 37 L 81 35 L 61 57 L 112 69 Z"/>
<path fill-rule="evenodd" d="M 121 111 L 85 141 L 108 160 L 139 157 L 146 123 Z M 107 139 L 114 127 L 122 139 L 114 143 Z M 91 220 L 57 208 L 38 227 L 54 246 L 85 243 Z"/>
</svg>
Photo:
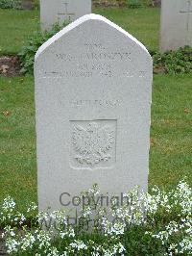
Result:
<svg viewBox="0 0 192 256">
<path fill-rule="evenodd" d="M 33 74 L 34 73 L 34 62 L 37 49 L 49 38 L 56 35 L 66 24 L 60 26 L 55 24 L 51 31 L 47 32 L 36 32 L 32 38 L 30 38 L 26 45 L 24 45 L 18 56 L 21 61 L 21 73 Z"/>
</svg>

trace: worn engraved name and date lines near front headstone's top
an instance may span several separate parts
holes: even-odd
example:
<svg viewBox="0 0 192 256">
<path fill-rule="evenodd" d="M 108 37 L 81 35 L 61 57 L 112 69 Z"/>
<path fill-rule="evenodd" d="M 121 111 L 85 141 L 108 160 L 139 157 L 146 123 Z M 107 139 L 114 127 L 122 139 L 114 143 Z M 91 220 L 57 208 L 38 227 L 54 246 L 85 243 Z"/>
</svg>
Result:
<svg viewBox="0 0 192 256">
<path fill-rule="evenodd" d="M 83 42 L 82 51 L 75 53 L 58 52 L 55 55 L 55 62 L 60 62 L 64 68 L 58 70 L 49 70 L 40 74 L 43 78 L 83 78 L 102 77 L 104 79 L 115 76 L 145 78 L 144 70 L 137 71 L 132 67 L 132 52 L 128 48 L 110 50 L 103 43 Z M 124 63 L 123 68 L 119 64 Z M 40 72 L 40 70 L 39 70 Z M 110 105 L 110 104 L 107 104 Z"/>
</svg>

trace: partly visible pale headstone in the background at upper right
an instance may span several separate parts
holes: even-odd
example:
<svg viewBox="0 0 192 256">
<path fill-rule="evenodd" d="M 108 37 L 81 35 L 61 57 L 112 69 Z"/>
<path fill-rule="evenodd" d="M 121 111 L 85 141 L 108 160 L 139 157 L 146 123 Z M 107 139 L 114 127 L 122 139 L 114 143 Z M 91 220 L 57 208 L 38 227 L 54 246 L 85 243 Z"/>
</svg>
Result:
<svg viewBox="0 0 192 256">
<path fill-rule="evenodd" d="M 192 46 L 192 0 L 162 0 L 160 50 Z"/>
</svg>

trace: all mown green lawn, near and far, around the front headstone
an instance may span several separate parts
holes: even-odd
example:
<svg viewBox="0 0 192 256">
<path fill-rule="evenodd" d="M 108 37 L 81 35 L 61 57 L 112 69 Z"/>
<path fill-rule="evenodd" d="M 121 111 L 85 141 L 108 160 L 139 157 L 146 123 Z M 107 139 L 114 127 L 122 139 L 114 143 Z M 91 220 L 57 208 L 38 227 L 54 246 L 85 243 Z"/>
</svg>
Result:
<svg viewBox="0 0 192 256">
<path fill-rule="evenodd" d="M 158 9 L 105 9 L 106 15 L 158 48 Z M 0 10 L 1 54 L 16 53 L 39 26 L 38 13 Z M 17 39 L 15 39 L 17 38 Z M 149 186 L 173 188 L 184 176 L 192 185 L 192 74 L 155 75 Z M 22 209 L 36 201 L 34 77 L 0 77 L 0 201 L 11 194 Z"/>
</svg>

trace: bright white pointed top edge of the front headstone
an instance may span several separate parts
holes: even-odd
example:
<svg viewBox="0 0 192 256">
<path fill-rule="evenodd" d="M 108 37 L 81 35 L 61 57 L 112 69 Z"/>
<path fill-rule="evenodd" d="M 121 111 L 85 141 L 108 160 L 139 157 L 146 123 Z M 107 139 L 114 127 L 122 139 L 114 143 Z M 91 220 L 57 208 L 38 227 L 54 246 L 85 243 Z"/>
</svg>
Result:
<svg viewBox="0 0 192 256">
<path fill-rule="evenodd" d="M 75 28 L 83 25 L 85 22 L 88 22 L 88 21 L 91 21 L 91 20 L 98 21 L 98 25 L 99 25 L 100 22 L 106 23 L 108 25 L 108 27 L 113 28 L 117 32 L 121 33 L 121 35 L 130 39 L 132 41 L 132 43 L 137 45 L 140 49 L 143 50 L 143 52 L 145 52 L 151 58 L 151 56 L 150 56 L 148 50 L 146 49 L 146 47 L 140 41 L 138 41 L 136 38 L 133 38 L 132 35 L 130 35 L 128 32 L 126 32 L 124 29 L 122 29 L 118 25 L 109 21 L 106 17 L 104 17 L 102 15 L 91 13 L 91 14 L 86 14 L 86 15 L 78 18 L 76 21 L 72 22 L 71 24 L 64 27 L 62 30 L 60 30 L 60 32 L 57 33 L 54 37 L 52 37 L 52 38 L 48 39 L 46 42 L 44 42 L 39 47 L 39 49 L 37 50 L 35 60 L 37 60 L 37 58 L 45 51 L 45 49 L 49 48 L 50 45 L 52 45 L 57 40 L 59 40 L 63 36 L 70 33 L 73 29 L 75 29 Z M 94 33 L 94 31 L 92 31 L 92 33 Z"/>
</svg>

